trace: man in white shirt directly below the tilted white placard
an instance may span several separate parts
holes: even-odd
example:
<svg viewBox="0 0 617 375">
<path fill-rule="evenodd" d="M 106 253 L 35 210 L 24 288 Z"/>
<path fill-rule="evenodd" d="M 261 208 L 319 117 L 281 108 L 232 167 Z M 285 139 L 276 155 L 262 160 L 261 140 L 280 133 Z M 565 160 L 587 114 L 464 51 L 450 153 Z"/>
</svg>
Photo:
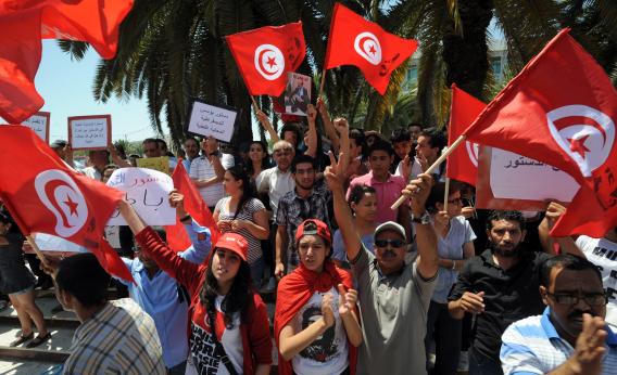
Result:
<svg viewBox="0 0 617 375">
<path fill-rule="evenodd" d="M 234 157 L 218 151 L 218 141 L 209 137 L 201 142 L 203 156 L 191 161 L 189 176 L 199 189 L 201 197 L 214 212 L 216 203 L 225 196 L 223 178 L 225 170 L 234 167 Z"/>
</svg>

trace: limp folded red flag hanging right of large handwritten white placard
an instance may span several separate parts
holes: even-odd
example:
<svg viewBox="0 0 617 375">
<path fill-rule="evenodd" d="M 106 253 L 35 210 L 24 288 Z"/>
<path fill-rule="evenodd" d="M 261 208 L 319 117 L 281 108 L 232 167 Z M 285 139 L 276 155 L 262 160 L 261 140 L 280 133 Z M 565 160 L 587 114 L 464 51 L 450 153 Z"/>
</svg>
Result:
<svg viewBox="0 0 617 375">
<path fill-rule="evenodd" d="M 178 193 L 185 196 L 185 210 L 187 214 L 190 215 L 198 224 L 206 227 L 210 230 L 211 242 L 212 244 L 216 244 L 216 241 L 221 236 L 218 227 L 212 217 L 210 208 L 207 208 L 189 178 L 181 160 L 178 161 L 176 169 L 174 169 L 172 180 L 174 181 L 174 188 Z M 191 245 L 185 225 L 180 222 L 179 218 L 176 217 L 176 223 L 174 225 L 166 225 L 165 231 L 167 232 L 167 244 L 174 250 L 182 251 Z"/>
</svg>

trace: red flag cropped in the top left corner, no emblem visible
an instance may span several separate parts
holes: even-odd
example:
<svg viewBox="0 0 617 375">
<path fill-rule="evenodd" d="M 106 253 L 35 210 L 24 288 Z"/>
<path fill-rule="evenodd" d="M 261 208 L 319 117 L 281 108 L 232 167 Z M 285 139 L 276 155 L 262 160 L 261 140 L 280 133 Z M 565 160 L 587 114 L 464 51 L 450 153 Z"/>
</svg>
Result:
<svg viewBox="0 0 617 375">
<path fill-rule="evenodd" d="M 112 59 L 131 7 L 133 0 L 0 0 L 0 116 L 18 124 L 43 105 L 34 85 L 41 38 L 86 41 Z"/>
</svg>

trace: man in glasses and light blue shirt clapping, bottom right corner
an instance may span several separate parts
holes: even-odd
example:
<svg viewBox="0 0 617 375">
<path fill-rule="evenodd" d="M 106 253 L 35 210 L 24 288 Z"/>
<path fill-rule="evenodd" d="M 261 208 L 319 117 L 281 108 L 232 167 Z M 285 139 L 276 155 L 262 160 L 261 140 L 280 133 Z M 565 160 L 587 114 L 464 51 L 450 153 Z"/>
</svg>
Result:
<svg viewBox="0 0 617 375">
<path fill-rule="evenodd" d="M 559 255 L 542 264 L 542 315 L 513 323 L 501 361 L 509 374 L 617 374 L 617 336 L 604 322 L 606 295 L 597 268 Z"/>
</svg>

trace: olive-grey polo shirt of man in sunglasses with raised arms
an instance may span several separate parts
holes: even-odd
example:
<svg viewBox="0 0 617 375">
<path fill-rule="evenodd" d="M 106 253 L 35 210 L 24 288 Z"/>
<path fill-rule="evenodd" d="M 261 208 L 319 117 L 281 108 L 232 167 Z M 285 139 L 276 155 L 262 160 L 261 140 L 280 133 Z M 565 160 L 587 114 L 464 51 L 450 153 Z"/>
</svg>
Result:
<svg viewBox="0 0 617 375">
<path fill-rule="evenodd" d="M 356 373 L 426 374 L 424 339 L 437 275 L 424 280 L 413 262 L 386 276 L 370 251 L 364 246 L 360 251 L 352 264 L 364 338 Z"/>
</svg>

